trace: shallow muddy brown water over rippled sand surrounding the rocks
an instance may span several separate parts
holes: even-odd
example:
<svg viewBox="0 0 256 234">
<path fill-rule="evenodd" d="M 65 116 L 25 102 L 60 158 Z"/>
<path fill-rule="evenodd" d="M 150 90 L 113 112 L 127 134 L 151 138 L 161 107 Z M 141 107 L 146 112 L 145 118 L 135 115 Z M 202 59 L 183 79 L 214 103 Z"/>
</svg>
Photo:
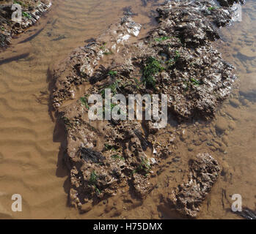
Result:
<svg viewBox="0 0 256 234">
<path fill-rule="evenodd" d="M 153 25 L 156 1 L 142 6 L 134 0 L 134 19 L 145 31 Z M 68 171 L 62 164 L 62 132 L 48 111 L 48 68 L 65 58 L 84 40 L 97 37 L 131 6 L 125 0 L 62 0 L 40 25 L 29 29 L 19 40 L 35 29 L 36 37 L 0 53 L 0 219 L 169 219 L 175 218 L 161 204 L 161 194 L 169 181 L 179 181 L 186 161 L 197 152 L 210 152 L 222 165 L 222 176 L 202 205 L 200 219 L 238 219 L 230 212 L 233 194 L 240 194 L 243 205 L 256 208 L 256 2 L 247 1 L 241 22 L 222 29 L 222 41 L 216 48 L 226 61 L 237 68 L 238 82 L 230 99 L 224 102 L 211 123 L 180 124 L 162 129 L 160 143 L 167 143 L 172 132 L 183 132 L 175 141 L 175 158 L 165 163 L 158 186 L 141 204 L 134 197 L 103 201 L 87 214 L 78 214 L 67 205 Z M 23 55 L 19 56 L 19 55 Z M 15 56 L 19 56 L 15 58 Z M 13 59 L 14 57 L 14 59 Z M 173 125 L 173 124 L 172 124 Z M 173 156 L 172 156 L 173 157 Z M 168 161 L 168 160 L 167 160 Z M 127 193 L 121 189 L 120 193 Z M 12 212 L 11 197 L 23 197 L 23 211 Z M 132 204 L 132 205 L 131 205 Z M 160 205 L 159 205 L 160 204 Z M 117 214 L 108 211 L 115 205 Z"/>
</svg>

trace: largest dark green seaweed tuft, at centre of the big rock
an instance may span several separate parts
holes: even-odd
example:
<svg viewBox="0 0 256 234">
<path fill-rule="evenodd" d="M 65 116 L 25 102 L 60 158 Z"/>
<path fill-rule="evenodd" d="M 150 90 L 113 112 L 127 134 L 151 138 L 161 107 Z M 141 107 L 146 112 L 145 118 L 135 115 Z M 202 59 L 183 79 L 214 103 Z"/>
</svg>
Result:
<svg viewBox="0 0 256 234">
<path fill-rule="evenodd" d="M 146 65 L 143 68 L 142 81 L 146 87 L 156 88 L 156 75 L 158 72 L 164 70 L 164 67 L 161 66 L 161 62 L 155 59 L 154 57 L 149 57 L 146 61 Z"/>
</svg>

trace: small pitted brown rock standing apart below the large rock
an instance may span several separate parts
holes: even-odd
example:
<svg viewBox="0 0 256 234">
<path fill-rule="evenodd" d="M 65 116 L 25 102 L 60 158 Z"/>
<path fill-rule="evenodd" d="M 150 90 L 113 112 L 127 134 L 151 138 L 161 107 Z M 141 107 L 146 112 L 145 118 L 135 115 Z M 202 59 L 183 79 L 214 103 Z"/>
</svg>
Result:
<svg viewBox="0 0 256 234">
<path fill-rule="evenodd" d="M 220 168 L 210 154 L 197 154 L 195 159 L 191 159 L 189 170 L 187 180 L 172 191 L 167 203 L 181 214 L 194 218 L 218 178 Z"/>
</svg>

